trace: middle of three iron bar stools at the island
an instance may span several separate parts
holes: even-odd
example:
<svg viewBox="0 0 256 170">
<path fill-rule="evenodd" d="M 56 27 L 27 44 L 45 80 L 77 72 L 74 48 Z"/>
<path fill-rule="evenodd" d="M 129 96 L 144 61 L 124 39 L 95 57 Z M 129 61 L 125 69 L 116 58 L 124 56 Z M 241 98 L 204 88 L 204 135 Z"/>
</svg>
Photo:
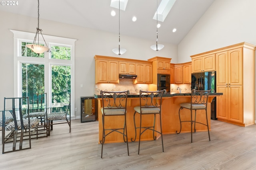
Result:
<svg viewBox="0 0 256 170">
<path fill-rule="evenodd" d="M 140 129 L 139 135 L 139 148 L 138 148 L 138 155 L 140 154 L 140 138 L 141 135 L 146 130 L 153 131 L 153 139 L 156 140 L 155 132 L 161 135 L 162 139 L 162 152 L 164 152 L 164 144 L 163 144 L 163 135 L 162 135 L 162 117 L 161 117 L 161 106 L 162 106 L 162 96 L 163 93 L 166 93 L 166 90 L 161 91 L 142 91 L 140 90 L 140 106 L 134 107 L 134 127 L 135 127 L 135 138 L 134 140 L 131 139 L 132 143 L 136 140 L 137 130 Z M 135 123 L 135 115 L 136 113 L 140 114 L 140 127 L 136 127 Z M 154 123 L 152 126 L 142 127 L 142 115 L 154 115 Z M 156 123 L 156 114 L 160 116 L 160 131 L 155 130 L 155 123 Z M 141 131 L 141 129 L 144 129 Z"/>
</svg>

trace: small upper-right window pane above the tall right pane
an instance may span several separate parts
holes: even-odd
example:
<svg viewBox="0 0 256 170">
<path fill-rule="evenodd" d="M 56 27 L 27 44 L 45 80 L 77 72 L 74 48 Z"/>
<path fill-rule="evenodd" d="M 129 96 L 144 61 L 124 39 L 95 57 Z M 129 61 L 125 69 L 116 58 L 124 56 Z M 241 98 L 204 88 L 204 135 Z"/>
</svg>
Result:
<svg viewBox="0 0 256 170">
<path fill-rule="evenodd" d="M 71 48 L 52 46 L 52 59 L 71 60 Z"/>
</svg>

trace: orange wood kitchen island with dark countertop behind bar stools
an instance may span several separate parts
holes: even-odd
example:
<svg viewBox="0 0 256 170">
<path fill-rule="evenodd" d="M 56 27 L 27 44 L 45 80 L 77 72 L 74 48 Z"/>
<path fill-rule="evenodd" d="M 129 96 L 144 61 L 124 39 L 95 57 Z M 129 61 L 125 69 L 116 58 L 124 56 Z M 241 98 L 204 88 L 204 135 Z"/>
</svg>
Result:
<svg viewBox="0 0 256 170">
<path fill-rule="evenodd" d="M 163 134 L 174 134 L 176 131 L 180 130 L 180 119 L 179 119 L 179 109 L 180 103 L 190 102 L 190 95 L 191 93 L 176 93 L 176 92 L 169 92 L 164 94 L 162 98 L 162 132 Z M 208 98 L 208 103 L 212 102 L 212 99 L 216 96 L 220 96 L 222 93 L 210 93 Z M 98 120 L 99 120 L 99 141 L 102 138 L 102 98 L 98 95 Z M 126 113 L 126 123 L 127 123 L 127 133 L 128 133 L 128 141 L 130 142 L 131 139 L 135 137 L 135 127 L 134 127 L 134 107 L 140 105 L 140 96 L 138 93 L 129 94 L 127 98 L 127 113 Z M 208 104 L 207 114 L 208 114 L 208 123 L 210 129 L 210 111 L 211 105 Z M 193 112 L 194 113 L 194 112 Z M 142 126 L 152 125 L 153 124 L 153 115 L 143 115 L 144 118 L 142 121 Z M 109 117 L 108 117 L 109 118 Z M 190 120 L 190 110 L 182 109 L 181 110 L 181 119 L 182 120 Z M 139 127 L 139 114 L 136 114 L 135 121 L 136 127 Z M 206 116 L 204 110 L 198 110 L 196 112 L 196 121 L 202 122 L 206 124 Z M 111 116 L 111 118 L 105 120 L 105 128 L 108 126 L 113 125 L 116 127 L 123 127 L 122 118 L 118 116 Z M 188 133 L 191 132 L 191 124 L 190 122 L 186 122 L 182 124 L 181 133 Z M 156 116 L 156 130 L 159 131 L 160 123 L 159 123 L 159 115 Z M 196 131 L 207 131 L 207 127 L 196 123 Z M 139 133 L 139 129 L 137 129 L 137 134 Z M 158 134 L 157 138 L 160 136 Z M 152 131 L 146 131 L 141 136 L 141 141 L 148 141 L 153 140 Z M 99 142 L 98 141 L 98 142 Z M 136 141 L 138 141 L 138 136 Z M 116 142 L 124 142 L 123 136 L 119 133 L 112 133 L 106 137 L 105 143 L 116 143 Z"/>
</svg>

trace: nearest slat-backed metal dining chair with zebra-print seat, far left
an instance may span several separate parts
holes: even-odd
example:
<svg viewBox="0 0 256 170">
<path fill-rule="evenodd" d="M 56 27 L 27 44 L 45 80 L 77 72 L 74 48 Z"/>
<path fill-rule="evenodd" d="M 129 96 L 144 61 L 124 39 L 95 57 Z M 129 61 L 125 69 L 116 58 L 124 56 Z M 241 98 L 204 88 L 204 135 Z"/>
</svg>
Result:
<svg viewBox="0 0 256 170">
<path fill-rule="evenodd" d="M 12 114 L 14 120 L 7 125 L 2 124 L 2 153 L 31 149 L 31 135 L 34 132 L 37 133 L 40 119 L 29 117 L 29 98 L 4 98 L 3 122 L 6 121 L 6 112 L 8 111 Z M 25 113 L 28 114 L 28 119 L 23 119 Z M 10 132 L 6 135 L 8 131 Z M 23 141 L 26 139 L 29 140 L 29 144 L 23 147 Z M 19 149 L 16 149 L 17 141 L 19 141 Z M 6 151 L 7 143 L 12 143 L 12 149 L 8 145 Z"/>
</svg>

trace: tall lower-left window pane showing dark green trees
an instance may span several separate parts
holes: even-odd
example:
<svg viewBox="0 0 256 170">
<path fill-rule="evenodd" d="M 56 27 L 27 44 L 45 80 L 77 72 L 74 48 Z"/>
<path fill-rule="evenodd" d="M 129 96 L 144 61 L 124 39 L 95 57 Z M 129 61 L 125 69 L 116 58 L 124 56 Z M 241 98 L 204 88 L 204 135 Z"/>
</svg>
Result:
<svg viewBox="0 0 256 170">
<path fill-rule="evenodd" d="M 22 63 L 22 97 L 32 103 L 33 93 L 44 93 L 44 64 Z"/>
</svg>

